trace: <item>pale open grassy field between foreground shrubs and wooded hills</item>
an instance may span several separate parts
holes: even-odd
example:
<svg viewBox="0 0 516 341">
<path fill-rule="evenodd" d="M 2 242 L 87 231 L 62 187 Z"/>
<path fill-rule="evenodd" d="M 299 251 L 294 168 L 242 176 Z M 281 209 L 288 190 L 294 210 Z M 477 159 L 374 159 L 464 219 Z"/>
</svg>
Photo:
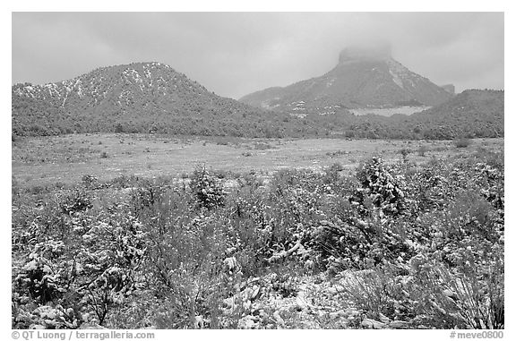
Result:
<svg viewBox="0 0 516 341">
<path fill-rule="evenodd" d="M 179 138 L 142 134 L 78 134 L 26 138 L 13 142 L 13 178 L 22 187 L 77 183 L 83 175 L 108 181 L 120 175 L 142 177 L 189 174 L 198 164 L 215 170 L 255 170 L 268 177 L 282 168 L 321 169 L 340 163 L 349 172 L 375 155 L 388 162 L 406 158 L 468 155 L 477 149 L 503 150 L 503 139 L 473 140 L 467 148 L 453 141 L 249 140 Z"/>
</svg>

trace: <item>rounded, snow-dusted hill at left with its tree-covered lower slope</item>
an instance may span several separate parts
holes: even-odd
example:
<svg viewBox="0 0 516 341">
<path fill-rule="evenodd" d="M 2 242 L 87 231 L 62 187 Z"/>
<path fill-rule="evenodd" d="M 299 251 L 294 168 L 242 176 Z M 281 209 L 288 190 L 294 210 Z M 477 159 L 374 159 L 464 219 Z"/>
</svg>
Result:
<svg viewBox="0 0 516 341">
<path fill-rule="evenodd" d="M 69 81 L 12 88 L 13 134 L 168 132 L 280 137 L 309 129 L 221 98 L 159 63 L 102 67 Z"/>
</svg>

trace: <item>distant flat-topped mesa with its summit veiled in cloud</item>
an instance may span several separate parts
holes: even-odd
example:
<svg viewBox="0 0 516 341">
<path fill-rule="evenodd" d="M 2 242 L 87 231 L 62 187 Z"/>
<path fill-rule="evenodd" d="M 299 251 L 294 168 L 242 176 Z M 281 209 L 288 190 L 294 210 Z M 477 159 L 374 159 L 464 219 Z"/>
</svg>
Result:
<svg viewBox="0 0 516 341">
<path fill-rule="evenodd" d="M 350 47 L 339 64 L 323 76 L 298 81 L 285 88 L 254 92 L 240 101 L 274 110 L 324 110 L 340 106 L 435 106 L 452 95 L 395 61 L 387 48 Z"/>
</svg>

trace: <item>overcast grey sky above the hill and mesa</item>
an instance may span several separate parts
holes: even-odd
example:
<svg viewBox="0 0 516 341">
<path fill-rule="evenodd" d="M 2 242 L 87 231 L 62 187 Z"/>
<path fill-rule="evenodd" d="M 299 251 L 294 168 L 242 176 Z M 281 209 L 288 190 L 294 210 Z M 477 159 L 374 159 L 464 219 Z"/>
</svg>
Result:
<svg viewBox="0 0 516 341">
<path fill-rule="evenodd" d="M 240 98 L 322 75 L 348 45 L 389 42 L 442 85 L 503 89 L 503 13 L 13 13 L 13 83 L 160 62 Z"/>
</svg>

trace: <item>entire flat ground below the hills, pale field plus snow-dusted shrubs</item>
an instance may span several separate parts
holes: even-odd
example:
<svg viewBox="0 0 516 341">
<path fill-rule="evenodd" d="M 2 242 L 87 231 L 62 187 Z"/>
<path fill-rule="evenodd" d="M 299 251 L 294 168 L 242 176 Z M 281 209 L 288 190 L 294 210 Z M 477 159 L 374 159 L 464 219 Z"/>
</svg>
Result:
<svg viewBox="0 0 516 341">
<path fill-rule="evenodd" d="M 16 141 L 13 328 L 503 328 L 503 141 L 467 152 Z"/>
</svg>

